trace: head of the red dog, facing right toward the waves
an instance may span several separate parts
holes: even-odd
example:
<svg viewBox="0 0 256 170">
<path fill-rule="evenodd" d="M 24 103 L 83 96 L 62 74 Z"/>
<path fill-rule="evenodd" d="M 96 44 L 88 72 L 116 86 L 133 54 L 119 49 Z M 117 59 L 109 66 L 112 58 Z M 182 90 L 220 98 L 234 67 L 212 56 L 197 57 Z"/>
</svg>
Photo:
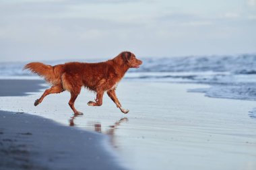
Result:
<svg viewBox="0 0 256 170">
<path fill-rule="evenodd" d="M 125 65 L 127 65 L 129 68 L 139 68 L 139 65 L 142 64 L 142 61 L 137 59 L 135 54 L 131 52 L 121 52 L 121 57 Z"/>
</svg>

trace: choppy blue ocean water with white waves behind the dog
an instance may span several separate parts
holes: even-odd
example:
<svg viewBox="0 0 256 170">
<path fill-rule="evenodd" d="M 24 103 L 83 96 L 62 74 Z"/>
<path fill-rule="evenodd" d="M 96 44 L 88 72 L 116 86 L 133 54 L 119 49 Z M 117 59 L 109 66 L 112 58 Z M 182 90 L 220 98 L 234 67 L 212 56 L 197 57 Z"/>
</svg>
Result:
<svg viewBox="0 0 256 170">
<path fill-rule="evenodd" d="M 125 79 L 164 81 L 170 83 L 201 83 L 206 89 L 189 89 L 208 97 L 256 100 L 256 54 L 237 56 L 185 56 L 176 58 L 142 58 L 139 69 L 130 69 Z M 85 62 L 85 60 L 79 60 Z M 86 60 L 96 62 L 97 60 Z M 68 60 L 46 61 L 57 65 Z M 0 63 L 0 78 L 36 78 L 23 71 L 26 62 Z"/>
</svg>

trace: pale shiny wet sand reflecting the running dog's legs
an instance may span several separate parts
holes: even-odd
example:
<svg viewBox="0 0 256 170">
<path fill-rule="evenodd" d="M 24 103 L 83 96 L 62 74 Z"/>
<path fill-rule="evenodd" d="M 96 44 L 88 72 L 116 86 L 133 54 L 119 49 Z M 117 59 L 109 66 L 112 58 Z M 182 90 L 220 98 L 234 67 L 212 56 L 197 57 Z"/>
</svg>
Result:
<svg viewBox="0 0 256 170">
<path fill-rule="evenodd" d="M 127 115 L 106 95 L 101 107 L 88 106 L 95 95 L 86 90 L 75 103 L 84 116 L 72 116 L 67 92 L 49 95 L 37 107 L 33 103 L 42 92 L 0 97 L 0 108 L 108 134 L 119 161 L 130 169 L 255 169 L 256 120 L 248 116 L 255 101 L 187 92 L 200 87 L 205 85 L 123 80 L 117 96 Z"/>
</svg>

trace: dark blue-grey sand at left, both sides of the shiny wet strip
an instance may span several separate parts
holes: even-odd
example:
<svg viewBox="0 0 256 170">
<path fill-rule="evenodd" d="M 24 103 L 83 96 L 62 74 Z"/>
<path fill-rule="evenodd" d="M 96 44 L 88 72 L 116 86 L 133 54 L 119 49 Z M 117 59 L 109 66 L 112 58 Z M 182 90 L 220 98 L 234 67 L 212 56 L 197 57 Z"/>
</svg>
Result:
<svg viewBox="0 0 256 170">
<path fill-rule="evenodd" d="M 1 95 L 38 91 L 42 81 L 1 80 Z M 0 169 L 124 169 L 101 134 L 25 113 L 0 111 Z"/>
</svg>

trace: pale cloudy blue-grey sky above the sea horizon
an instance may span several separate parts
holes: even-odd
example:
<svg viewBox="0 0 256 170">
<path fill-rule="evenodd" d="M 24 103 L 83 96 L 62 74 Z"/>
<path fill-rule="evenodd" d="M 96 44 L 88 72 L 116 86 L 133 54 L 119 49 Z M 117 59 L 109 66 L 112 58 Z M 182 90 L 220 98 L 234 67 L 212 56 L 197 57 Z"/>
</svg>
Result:
<svg viewBox="0 0 256 170">
<path fill-rule="evenodd" d="M 256 0 L 0 0 L 0 62 L 256 52 Z"/>
</svg>

